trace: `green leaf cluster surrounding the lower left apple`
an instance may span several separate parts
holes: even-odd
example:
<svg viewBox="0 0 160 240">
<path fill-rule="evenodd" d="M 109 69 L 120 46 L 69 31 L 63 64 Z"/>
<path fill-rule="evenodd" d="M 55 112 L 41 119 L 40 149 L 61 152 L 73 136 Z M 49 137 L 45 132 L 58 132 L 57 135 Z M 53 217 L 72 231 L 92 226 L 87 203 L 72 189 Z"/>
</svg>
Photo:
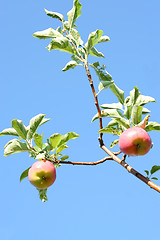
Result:
<svg viewBox="0 0 160 240">
<path fill-rule="evenodd" d="M 69 132 L 65 135 L 54 133 L 47 139 L 47 142 L 43 142 L 43 133 L 40 135 L 37 133 L 37 130 L 42 124 L 50 120 L 45 118 L 45 116 L 45 114 L 36 115 L 31 118 L 28 126 L 25 126 L 22 120 L 12 120 L 12 128 L 7 128 L 0 132 L 0 136 L 11 135 L 17 137 L 7 142 L 4 147 L 4 156 L 18 152 L 28 152 L 30 157 L 38 160 L 49 160 L 55 167 L 60 166 L 59 160 L 64 161 L 68 159 L 69 156 L 61 152 L 68 148 L 66 144 L 69 140 L 75 139 L 79 135 L 75 132 Z M 30 167 L 21 174 L 20 181 L 28 176 L 29 169 Z M 43 196 L 43 200 L 45 199 L 45 193 L 40 193 L 40 196 Z"/>
</svg>

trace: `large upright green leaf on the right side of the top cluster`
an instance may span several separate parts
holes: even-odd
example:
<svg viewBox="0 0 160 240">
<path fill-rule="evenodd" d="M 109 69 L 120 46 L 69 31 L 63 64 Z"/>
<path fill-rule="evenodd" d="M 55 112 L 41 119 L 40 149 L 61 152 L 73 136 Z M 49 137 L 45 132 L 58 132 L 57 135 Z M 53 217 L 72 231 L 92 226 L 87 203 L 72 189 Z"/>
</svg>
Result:
<svg viewBox="0 0 160 240">
<path fill-rule="evenodd" d="M 89 34 L 88 41 L 85 44 L 87 53 L 89 53 L 90 49 L 98 43 L 102 35 L 103 31 L 99 29 Z"/>
</svg>

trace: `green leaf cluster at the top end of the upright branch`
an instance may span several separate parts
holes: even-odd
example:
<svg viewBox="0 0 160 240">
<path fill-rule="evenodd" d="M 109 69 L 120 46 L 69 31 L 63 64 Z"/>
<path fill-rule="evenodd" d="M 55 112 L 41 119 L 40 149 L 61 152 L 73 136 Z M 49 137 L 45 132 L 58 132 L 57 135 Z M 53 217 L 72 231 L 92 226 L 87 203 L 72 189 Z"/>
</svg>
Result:
<svg viewBox="0 0 160 240">
<path fill-rule="evenodd" d="M 89 34 L 88 40 L 84 44 L 75 25 L 76 20 L 81 15 L 81 7 L 82 5 L 79 3 L 79 0 L 74 0 L 72 9 L 67 13 L 67 21 L 65 21 L 61 13 L 51 12 L 45 9 L 49 17 L 58 19 L 61 22 L 61 26 L 58 26 L 57 29 L 48 28 L 33 34 L 34 37 L 39 39 L 51 39 L 51 42 L 47 46 L 49 51 L 59 50 L 72 55 L 71 61 L 66 64 L 62 71 L 67 71 L 78 65 L 85 65 L 88 55 L 104 57 L 103 53 L 95 48 L 95 45 L 110 40 L 108 36 L 103 36 L 102 30 L 97 29 Z"/>
</svg>

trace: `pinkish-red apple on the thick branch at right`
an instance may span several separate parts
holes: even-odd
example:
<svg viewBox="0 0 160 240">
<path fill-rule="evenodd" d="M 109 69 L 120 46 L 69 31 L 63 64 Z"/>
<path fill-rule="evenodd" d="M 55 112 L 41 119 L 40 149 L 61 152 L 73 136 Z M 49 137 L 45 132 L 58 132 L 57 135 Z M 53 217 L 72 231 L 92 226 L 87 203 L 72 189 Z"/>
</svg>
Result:
<svg viewBox="0 0 160 240">
<path fill-rule="evenodd" d="M 131 127 L 119 137 L 120 150 L 129 156 L 145 155 L 152 145 L 149 134 L 141 127 Z"/>
</svg>

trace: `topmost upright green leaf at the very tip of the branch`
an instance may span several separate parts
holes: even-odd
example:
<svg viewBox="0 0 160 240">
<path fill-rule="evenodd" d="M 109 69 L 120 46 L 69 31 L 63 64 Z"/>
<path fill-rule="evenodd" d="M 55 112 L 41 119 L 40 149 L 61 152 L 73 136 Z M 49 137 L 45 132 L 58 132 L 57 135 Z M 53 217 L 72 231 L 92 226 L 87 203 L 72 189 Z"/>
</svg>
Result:
<svg viewBox="0 0 160 240">
<path fill-rule="evenodd" d="M 77 18 L 81 15 L 81 8 L 82 5 L 79 3 L 79 0 L 74 0 L 73 8 L 67 13 L 69 29 L 74 26 Z"/>
</svg>

